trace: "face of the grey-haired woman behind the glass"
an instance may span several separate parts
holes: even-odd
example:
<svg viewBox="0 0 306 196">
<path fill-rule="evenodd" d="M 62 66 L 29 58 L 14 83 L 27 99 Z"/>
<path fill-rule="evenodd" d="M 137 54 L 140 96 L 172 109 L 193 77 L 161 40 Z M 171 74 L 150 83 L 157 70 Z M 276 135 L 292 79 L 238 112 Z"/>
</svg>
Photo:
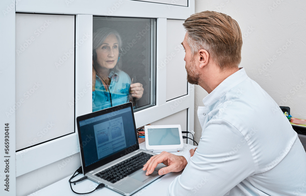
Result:
<svg viewBox="0 0 306 196">
<path fill-rule="evenodd" d="M 96 49 L 97 64 L 100 68 L 112 69 L 118 62 L 118 40 L 114 34 L 106 37 L 101 46 Z"/>
</svg>

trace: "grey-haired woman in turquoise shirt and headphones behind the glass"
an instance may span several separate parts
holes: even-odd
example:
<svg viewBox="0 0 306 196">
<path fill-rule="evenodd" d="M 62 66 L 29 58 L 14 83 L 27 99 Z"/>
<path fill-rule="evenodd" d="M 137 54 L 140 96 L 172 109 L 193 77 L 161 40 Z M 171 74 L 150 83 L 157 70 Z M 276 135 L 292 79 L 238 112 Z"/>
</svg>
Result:
<svg viewBox="0 0 306 196">
<path fill-rule="evenodd" d="M 129 101 L 135 106 L 144 89 L 120 70 L 122 40 L 119 33 L 103 27 L 93 33 L 92 39 L 92 111 Z"/>
</svg>

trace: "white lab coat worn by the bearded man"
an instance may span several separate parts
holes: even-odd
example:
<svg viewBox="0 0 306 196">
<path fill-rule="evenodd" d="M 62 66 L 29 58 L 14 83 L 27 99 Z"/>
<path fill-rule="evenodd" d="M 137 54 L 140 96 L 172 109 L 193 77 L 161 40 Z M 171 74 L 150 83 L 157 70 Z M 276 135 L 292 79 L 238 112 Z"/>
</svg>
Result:
<svg viewBox="0 0 306 196">
<path fill-rule="evenodd" d="M 306 196 L 306 153 L 275 101 L 241 68 L 203 99 L 202 136 L 171 196 Z"/>
</svg>

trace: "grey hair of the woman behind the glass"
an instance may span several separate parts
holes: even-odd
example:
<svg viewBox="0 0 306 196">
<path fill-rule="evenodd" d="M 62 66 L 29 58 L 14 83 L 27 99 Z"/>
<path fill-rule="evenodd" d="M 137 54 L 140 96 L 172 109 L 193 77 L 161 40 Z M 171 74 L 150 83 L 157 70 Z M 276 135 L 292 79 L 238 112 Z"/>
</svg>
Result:
<svg viewBox="0 0 306 196">
<path fill-rule="evenodd" d="M 107 36 L 114 34 L 117 37 L 118 40 L 118 49 L 119 49 L 119 57 L 121 53 L 121 47 L 122 47 L 122 39 L 119 33 L 111 28 L 102 27 L 97 29 L 92 34 L 92 59 L 95 61 L 97 59 L 97 53 L 96 49 L 102 45 L 104 40 L 107 38 Z M 121 65 L 121 59 L 119 59 L 117 65 Z M 119 66 L 121 67 L 121 66 Z"/>
</svg>

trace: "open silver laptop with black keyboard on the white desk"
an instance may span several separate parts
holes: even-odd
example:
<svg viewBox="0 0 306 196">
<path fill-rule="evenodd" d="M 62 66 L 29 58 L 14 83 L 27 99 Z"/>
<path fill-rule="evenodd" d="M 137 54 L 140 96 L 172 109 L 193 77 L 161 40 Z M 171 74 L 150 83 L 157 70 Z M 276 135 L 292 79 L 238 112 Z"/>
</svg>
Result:
<svg viewBox="0 0 306 196">
<path fill-rule="evenodd" d="M 146 176 L 143 165 L 155 153 L 139 149 L 132 103 L 76 118 L 83 174 L 123 195 L 131 195 L 159 178 L 158 164 Z"/>
</svg>

